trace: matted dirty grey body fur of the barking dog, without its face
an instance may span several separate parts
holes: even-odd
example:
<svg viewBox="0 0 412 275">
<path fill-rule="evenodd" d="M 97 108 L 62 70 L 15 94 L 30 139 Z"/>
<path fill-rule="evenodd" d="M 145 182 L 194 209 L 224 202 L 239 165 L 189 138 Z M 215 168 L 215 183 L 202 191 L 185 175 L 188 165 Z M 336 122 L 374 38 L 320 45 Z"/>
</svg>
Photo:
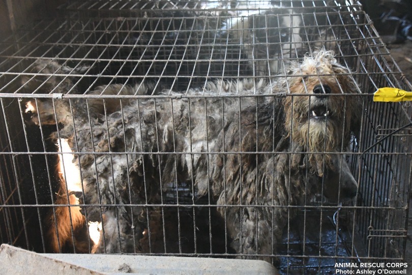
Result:
<svg viewBox="0 0 412 275">
<path fill-rule="evenodd" d="M 104 223 L 94 252 L 162 252 L 160 210 L 150 205 L 163 203 L 171 182 L 192 182 L 196 196 L 211 194 L 238 256 L 267 261 L 271 257 L 258 255 L 275 254 L 295 212 L 287 206 L 306 205 L 322 190 L 337 197 L 346 188 L 352 197 L 356 181 L 342 155 L 331 154 L 319 175 L 310 172 L 319 169 L 312 169 L 307 148 L 290 139 L 285 99 L 276 96 L 288 91 L 290 78 L 219 80 L 188 90 L 189 97 L 163 91 L 159 95 L 179 99 L 130 99 L 110 110 L 96 99 L 103 109 L 93 114 L 84 101 L 72 102 L 74 116 L 57 122 L 64 124 L 60 137 L 81 152 L 73 162 L 83 181 L 84 193 L 75 194 L 86 205 L 82 212 L 88 221 Z M 144 94 L 144 84 L 139 87 Z M 242 97 L 251 94 L 264 96 Z M 72 114 L 63 102 L 58 112 Z M 350 132 L 344 134 L 347 143 Z"/>
</svg>

